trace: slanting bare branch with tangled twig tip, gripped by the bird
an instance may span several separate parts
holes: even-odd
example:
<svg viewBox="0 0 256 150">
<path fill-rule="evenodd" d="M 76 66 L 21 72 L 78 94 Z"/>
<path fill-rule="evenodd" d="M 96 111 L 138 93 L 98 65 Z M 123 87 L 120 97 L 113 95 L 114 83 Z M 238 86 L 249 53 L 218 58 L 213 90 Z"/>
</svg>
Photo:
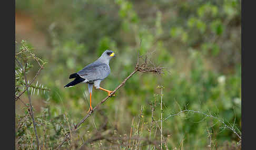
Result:
<svg viewBox="0 0 256 150">
<path fill-rule="evenodd" d="M 80 125 L 83 124 L 83 123 L 85 122 L 85 120 L 86 120 L 90 115 L 92 115 L 92 114 L 95 112 L 95 110 L 97 110 L 97 108 L 98 108 L 102 103 L 104 103 L 107 99 L 109 99 L 110 97 L 112 97 L 112 95 L 113 95 L 117 90 L 119 90 L 119 89 L 126 83 L 126 81 L 129 80 L 129 79 L 133 76 L 133 74 L 135 74 L 137 71 L 142 72 L 142 73 L 144 73 L 144 72 L 152 72 L 152 73 L 156 73 L 156 74 L 162 74 L 162 73 L 163 73 L 163 69 L 166 69 L 166 68 L 164 68 L 164 67 L 150 67 L 150 66 L 147 66 L 147 57 L 146 57 L 144 63 L 143 63 L 142 65 L 139 65 L 139 59 L 140 59 L 140 58 L 142 58 L 142 56 L 140 56 L 140 54 L 138 53 L 138 58 L 137 58 L 137 63 L 136 63 L 136 65 L 135 65 L 135 70 L 134 70 L 128 77 L 126 77 L 126 78 L 123 80 L 123 82 L 122 82 L 120 85 L 118 85 L 118 87 L 116 87 L 116 88 L 114 89 L 114 91 L 113 91 L 109 96 L 107 96 L 107 97 L 106 97 L 105 99 L 103 99 L 100 103 L 98 103 L 98 104 L 93 108 L 92 111 L 88 112 L 88 113 L 84 116 L 84 118 L 83 118 L 78 124 L 76 124 L 76 125 L 74 126 L 74 129 L 73 129 L 72 131 L 70 131 L 69 133 L 67 133 L 67 135 L 65 136 L 64 140 L 63 140 L 60 144 L 58 144 L 58 146 L 56 147 L 56 149 L 60 148 L 68 139 L 70 139 L 71 132 L 74 132 L 74 131 L 78 130 L 78 127 L 80 127 Z"/>
</svg>

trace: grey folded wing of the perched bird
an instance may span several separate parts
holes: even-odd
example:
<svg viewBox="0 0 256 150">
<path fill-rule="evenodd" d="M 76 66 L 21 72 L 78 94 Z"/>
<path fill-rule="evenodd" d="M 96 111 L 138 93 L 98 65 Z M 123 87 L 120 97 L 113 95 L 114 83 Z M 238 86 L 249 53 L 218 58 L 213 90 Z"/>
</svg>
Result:
<svg viewBox="0 0 256 150">
<path fill-rule="evenodd" d="M 77 74 L 89 81 L 103 80 L 110 74 L 110 67 L 106 63 L 93 62 L 78 71 Z"/>
</svg>

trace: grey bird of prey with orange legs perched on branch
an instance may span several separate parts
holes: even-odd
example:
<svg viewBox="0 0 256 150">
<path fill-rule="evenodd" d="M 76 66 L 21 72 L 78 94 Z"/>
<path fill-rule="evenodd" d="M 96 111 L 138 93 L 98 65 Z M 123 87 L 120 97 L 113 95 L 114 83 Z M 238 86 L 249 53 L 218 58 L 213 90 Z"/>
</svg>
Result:
<svg viewBox="0 0 256 150">
<path fill-rule="evenodd" d="M 78 83 L 87 83 L 88 84 L 88 92 L 90 93 L 90 109 L 92 108 L 92 88 L 93 85 L 96 89 L 100 89 L 103 91 L 106 91 L 107 93 L 113 92 L 110 90 L 106 90 L 100 87 L 100 83 L 102 80 L 104 80 L 107 76 L 110 74 L 110 66 L 109 62 L 112 57 L 115 56 L 115 53 L 112 50 L 105 50 L 101 57 L 98 58 L 93 63 L 90 63 L 86 67 L 84 67 L 82 70 L 73 73 L 70 75 L 70 79 L 75 78 L 72 82 L 65 85 L 64 88 L 73 87 L 74 85 Z M 114 96 L 114 94 L 113 94 Z"/>
</svg>

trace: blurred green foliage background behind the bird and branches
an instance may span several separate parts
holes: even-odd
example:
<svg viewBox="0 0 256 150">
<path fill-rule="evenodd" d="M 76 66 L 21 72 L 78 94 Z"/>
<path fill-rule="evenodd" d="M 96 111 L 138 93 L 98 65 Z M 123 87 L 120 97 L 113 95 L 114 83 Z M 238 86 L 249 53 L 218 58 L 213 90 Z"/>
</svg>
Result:
<svg viewBox="0 0 256 150">
<path fill-rule="evenodd" d="M 155 120 L 159 121 L 161 113 L 161 89 L 157 85 L 164 87 L 164 118 L 180 109 L 190 109 L 218 116 L 241 130 L 241 1 L 15 3 L 16 47 L 22 39 L 27 40 L 35 54 L 47 62 L 38 82 L 51 91 L 33 95 L 35 115 L 48 105 L 53 117 L 66 113 L 71 124 L 79 122 L 88 110 L 84 97 L 87 84 L 63 88 L 72 81 L 69 75 L 96 60 L 104 50 L 113 50 L 116 57 L 110 61 L 111 74 L 101 83 L 101 87 L 113 90 L 134 70 L 139 50 L 168 71 L 162 76 L 136 73 L 101 106 L 109 125 L 115 126 L 120 135 L 130 135 L 132 119 L 138 121 L 144 105 L 143 120 L 147 125 L 141 136 L 149 136 L 146 130 L 151 123 L 150 104 L 156 101 Z M 34 67 L 29 72 L 29 80 L 37 70 Z M 92 105 L 105 97 L 105 92 L 93 89 Z M 26 95 L 22 99 L 27 102 Z M 22 108 L 17 101 L 16 114 L 23 114 Z M 102 116 L 96 112 L 80 132 L 93 132 L 101 124 Z M 181 143 L 183 149 L 209 149 L 207 130 L 213 133 L 212 148 L 240 141 L 231 130 L 222 127 L 211 117 L 184 113 L 163 122 L 163 135 L 169 149 L 179 148 Z M 51 131 L 47 134 L 55 136 Z M 154 138 L 160 139 L 159 131 Z"/>
</svg>

